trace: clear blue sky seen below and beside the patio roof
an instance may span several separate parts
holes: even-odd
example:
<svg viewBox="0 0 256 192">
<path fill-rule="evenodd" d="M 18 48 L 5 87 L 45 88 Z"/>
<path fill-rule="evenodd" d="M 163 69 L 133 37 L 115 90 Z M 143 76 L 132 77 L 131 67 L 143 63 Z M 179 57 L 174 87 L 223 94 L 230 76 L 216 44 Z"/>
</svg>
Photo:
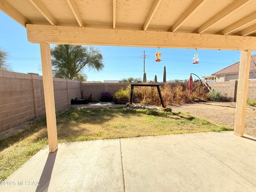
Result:
<svg viewBox="0 0 256 192">
<path fill-rule="evenodd" d="M 19 73 L 38 73 L 42 75 L 39 44 L 29 43 L 25 27 L 0 11 L 0 49 L 9 57 L 7 63 Z M 51 45 L 54 46 L 54 45 Z M 194 49 L 161 48 L 161 62 L 155 62 L 157 48 L 95 46 L 103 55 L 105 67 L 101 71 L 84 69 L 87 81 L 119 80 L 127 77 L 143 77 L 143 51 L 146 51 L 147 80 L 163 79 L 166 66 L 166 80 L 188 79 L 190 73 L 199 77 L 211 75 L 239 61 L 239 51 L 197 50 L 199 64 L 193 65 Z M 254 52 L 253 52 L 254 53 Z"/>
</svg>

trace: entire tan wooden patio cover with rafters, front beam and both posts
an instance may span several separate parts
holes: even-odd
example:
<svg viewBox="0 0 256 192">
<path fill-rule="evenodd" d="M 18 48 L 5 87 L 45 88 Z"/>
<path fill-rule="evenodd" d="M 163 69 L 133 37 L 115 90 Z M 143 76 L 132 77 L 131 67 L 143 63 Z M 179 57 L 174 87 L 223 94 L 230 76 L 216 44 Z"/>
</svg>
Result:
<svg viewBox="0 0 256 192">
<path fill-rule="evenodd" d="M 0 0 L 0 10 L 40 44 L 50 151 L 58 148 L 51 43 L 241 50 L 235 134 L 243 136 L 256 1 Z"/>
</svg>

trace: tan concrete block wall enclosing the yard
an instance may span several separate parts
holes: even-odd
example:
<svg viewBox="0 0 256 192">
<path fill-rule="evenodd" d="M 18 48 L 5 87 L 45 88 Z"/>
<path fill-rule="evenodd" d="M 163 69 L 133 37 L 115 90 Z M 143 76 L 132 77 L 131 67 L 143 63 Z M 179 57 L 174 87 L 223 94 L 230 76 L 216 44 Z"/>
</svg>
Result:
<svg viewBox="0 0 256 192">
<path fill-rule="evenodd" d="M 94 101 L 102 92 L 114 94 L 129 83 L 81 83 L 69 79 L 53 78 L 55 109 L 70 105 L 70 100 L 92 95 Z M 171 83 L 177 85 L 177 83 Z M 236 99 L 237 81 L 209 82 L 215 90 Z M 256 81 L 249 82 L 248 98 L 256 99 Z M 45 115 L 43 77 L 38 74 L 21 74 L 0 71 L 0 132 Z"/>
</svg>

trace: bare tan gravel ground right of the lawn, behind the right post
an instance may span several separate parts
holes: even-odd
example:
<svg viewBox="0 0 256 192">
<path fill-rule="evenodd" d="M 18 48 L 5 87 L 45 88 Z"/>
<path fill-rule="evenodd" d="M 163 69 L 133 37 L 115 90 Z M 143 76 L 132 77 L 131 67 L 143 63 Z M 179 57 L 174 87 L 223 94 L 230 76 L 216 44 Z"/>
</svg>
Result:
<svg viewBox="0 0 256 192">
<path fill-rule="evenodd" d="M 186 112 L 212 123 L 234 127 L 235 102 L 199 102 L 172 106 L 173 112 Z M 256 107 L 246 108 L 245 134 L 256 137 Z"/>
</svg>

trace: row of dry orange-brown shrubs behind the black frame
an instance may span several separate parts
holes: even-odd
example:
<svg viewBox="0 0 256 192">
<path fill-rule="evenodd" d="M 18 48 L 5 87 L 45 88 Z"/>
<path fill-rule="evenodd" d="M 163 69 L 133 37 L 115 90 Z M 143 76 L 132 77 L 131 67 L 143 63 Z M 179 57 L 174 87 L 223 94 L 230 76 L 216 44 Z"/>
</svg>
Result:
<svg viewBox="0 0 256 192">
<path fill-rule="evenodd" d="M 117 91 L 114 94 L 114 101 L 117 103 L 129 102 L 130 89 L 130 86 L 127 86 L 126 89 Z M 189 93 L 188 83 L 165 83 L 160 86 L 160 89 L 165 106 L 173 103 L 193 103 L 194 99 L 208 99 L 208 91 L 204 90 L 202 87 L 200 90 L 195 89 L 192 93 Z M 133 103 L 140 103 L 141 105 L 161 105 L 156 87 L 135 86 L 133 91 Z"/>
</svg>

